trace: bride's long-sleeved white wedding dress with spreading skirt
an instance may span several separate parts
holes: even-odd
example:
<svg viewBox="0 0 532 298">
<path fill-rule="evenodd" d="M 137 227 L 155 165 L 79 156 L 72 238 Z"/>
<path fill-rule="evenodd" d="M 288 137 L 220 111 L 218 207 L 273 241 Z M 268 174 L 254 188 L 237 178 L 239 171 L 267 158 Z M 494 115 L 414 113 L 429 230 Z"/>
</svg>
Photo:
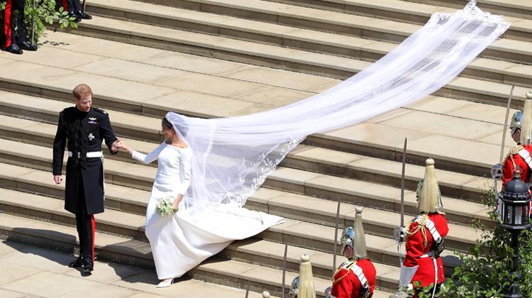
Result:
<svg viewBox="0 0 532 298">
<path fill-rule="evenodd" d="M 283 221 L 279 216 L 239 206 L 194 206 L 194 202 L 189 202 L 191 197 L 186 195 L 174 216 L 161 217 L 155 212 L 159 199 L 173 200 L 177 194 L 186 194 L 194 179 L 192 150 L 163 142 L 148 155 L 137 151 L 131 155 L 145 164 L 159 160 L 146 210 L 146 236 L 160 280 L 180 277 L 232 241 L 248 238 Z"/>
</svg>

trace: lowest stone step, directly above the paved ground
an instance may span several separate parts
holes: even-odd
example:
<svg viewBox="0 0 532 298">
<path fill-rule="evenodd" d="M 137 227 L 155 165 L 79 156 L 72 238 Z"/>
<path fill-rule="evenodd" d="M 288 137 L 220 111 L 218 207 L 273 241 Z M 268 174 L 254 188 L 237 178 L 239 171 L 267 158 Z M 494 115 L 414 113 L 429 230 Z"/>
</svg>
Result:
<svg viewBox="0 0 532 298">
<path fill-rule="evenodd" d="M 0 213 L 0 237 L 67 253 L 74 253 L 77 247 L 77 232 L 74 227 L 10 214 Z M 150 245 L 143 241 L 111 236 L 96 231 L 94 246 L 97 258 L 100 260 L 149 269 L 154 268 Z M 290 282 L 296 275 L 294 272 L 287 272 L 287 284 L 284 286 L 287 291 Z M 228 285 L 240 289 L 245 289 L 248 281 L 250 281 L 252 291 L 250 297 L 262 297 L 258 292 L 262 292 L 264 289 L 269 289 L 272 295 L 278 296 L 282 288 L 281 270 L 238 262 L 237 260 L 224 260 L 218 256 L 201 263 L 189 271 L 187 276 L 193 277 L 195 280 L 206 280 L 216 285 Z M 330 280 L 315 277 L 314 282 L 318 295 L 323 297 L 323 289 L 330 285 Z M 376 290 L 374 297 L 384 298 L 388 295 L 389 292 Z"/>
</svg>

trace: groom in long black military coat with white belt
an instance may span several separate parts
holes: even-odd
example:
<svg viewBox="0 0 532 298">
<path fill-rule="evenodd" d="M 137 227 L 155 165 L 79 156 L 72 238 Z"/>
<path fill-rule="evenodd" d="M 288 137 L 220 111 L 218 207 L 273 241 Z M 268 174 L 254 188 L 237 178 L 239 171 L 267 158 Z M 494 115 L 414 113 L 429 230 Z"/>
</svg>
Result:
<svg viewBox="0 0 532 298">
<path fill-rule="evenodd" d="M 53 180 L 62 181 L 61 172 L 65 145 L 68 140 L 65 209 L 76 215 L 79 236 L 79 258 L 69 267 L 94 269 L 94 214 L 104 212 L 104 155 L 102 139 L 111 154 L 118 153 L 109 115 L 92 107 L 92 90 L 79 84 L 73 90 L 74 104 L 59 114 L 53 144 Z"/>
</svg>

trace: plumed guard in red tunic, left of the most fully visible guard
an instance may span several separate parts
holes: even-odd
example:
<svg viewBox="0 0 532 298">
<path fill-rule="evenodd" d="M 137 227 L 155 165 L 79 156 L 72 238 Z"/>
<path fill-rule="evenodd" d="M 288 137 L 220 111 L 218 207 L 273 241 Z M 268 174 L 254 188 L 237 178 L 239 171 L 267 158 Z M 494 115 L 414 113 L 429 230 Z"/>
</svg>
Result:
<svg viewBox="0 0 532 298">
<path fill-rule="evenodd" d="M 342 254 L 348 258 L 333 275 L 331 297 L 372 297 L 377 271 L 367 258 L 366 240 L 362 227 L 362 207 L 356 207 L 355 226 L 343 230 L 340 243 Z"/>
</svg>

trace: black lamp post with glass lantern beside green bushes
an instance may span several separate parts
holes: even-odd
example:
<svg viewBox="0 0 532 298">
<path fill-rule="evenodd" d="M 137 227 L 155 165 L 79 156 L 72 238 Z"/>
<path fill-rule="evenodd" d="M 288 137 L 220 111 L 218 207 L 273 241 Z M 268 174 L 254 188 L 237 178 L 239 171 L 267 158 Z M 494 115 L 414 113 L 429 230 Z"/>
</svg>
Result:
<svg viewBox="0 0 532 298">
<path fill-rule="evenodd" d="M 499 193 L 501 199 L 502 227 L 511 233 L 511 248 L 514 255 L 511 258 L 511 275 L 516 277 L 516 282 L 510 287 L 504 297 L 523 297 L 519 289 L 519 243 L 518 236 L 521 231 L 530 228 L 530 190 L 528 184 L 521 181 L 521 170 L 514 171 L 514 178 Z"/>
</svg>

